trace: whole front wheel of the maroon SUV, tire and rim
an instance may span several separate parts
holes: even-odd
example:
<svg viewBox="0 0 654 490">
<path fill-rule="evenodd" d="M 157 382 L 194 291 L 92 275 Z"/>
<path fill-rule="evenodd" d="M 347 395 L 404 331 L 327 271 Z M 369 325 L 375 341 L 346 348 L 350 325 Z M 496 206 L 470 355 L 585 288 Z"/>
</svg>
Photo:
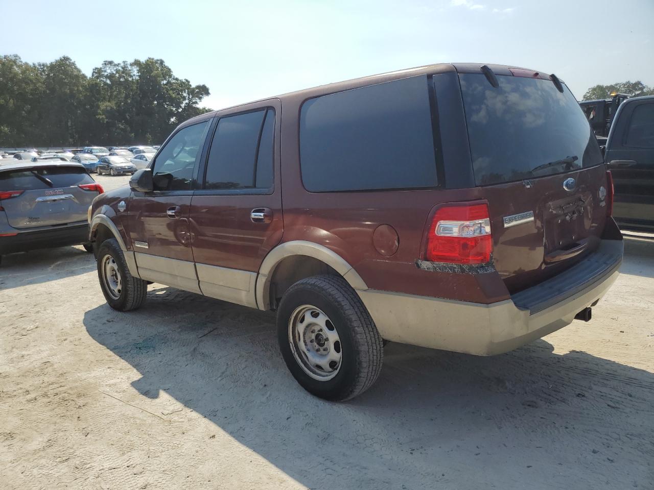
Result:
<svg viewBox="0 0 654 490">
<path fill-rule="evenodd" d="M 141 307 L 148 284 L 129 273 L 116 238 L 105 240 L 97 251 L 97 276 L 105 299 L 114 310 L 126 312 Z"/>
</svg>

